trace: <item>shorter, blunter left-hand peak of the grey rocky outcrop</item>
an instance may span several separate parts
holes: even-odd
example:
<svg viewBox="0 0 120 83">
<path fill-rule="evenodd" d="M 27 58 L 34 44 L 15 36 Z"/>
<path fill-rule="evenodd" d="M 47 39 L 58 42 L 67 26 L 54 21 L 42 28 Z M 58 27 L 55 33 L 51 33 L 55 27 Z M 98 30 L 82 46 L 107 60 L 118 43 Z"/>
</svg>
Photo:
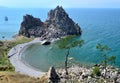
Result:
<svg viewBox="0 0 120 83">
<path fill-rule="evenodd" d="M 23 17 L 23 22 L 19 30 L 19 35 L 26 37 L 37 37 L 43 34 L 42 28 L 43 22 L 40 19 L 34 18 L 32 15 L 26 15 Z"/>
</svg>

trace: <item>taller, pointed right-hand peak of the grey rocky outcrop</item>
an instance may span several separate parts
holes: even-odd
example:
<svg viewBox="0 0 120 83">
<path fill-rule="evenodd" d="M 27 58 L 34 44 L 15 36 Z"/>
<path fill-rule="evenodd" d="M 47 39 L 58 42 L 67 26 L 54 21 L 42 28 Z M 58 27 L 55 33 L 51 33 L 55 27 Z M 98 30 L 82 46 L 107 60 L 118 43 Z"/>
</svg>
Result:
<svg viewBox="0 0 120 83">
<path fill-rule="evenodd" d="M 62 30 L 64 35 L 79 35 L 81 34 L 80 27 L 76 24 L 65 12 L 62 7 L 57 6 L 54 10 L 48 13 L 46 20 L 50 28 Z M 52 26 L 52 27 L 51 27 Z"/>
</svg>

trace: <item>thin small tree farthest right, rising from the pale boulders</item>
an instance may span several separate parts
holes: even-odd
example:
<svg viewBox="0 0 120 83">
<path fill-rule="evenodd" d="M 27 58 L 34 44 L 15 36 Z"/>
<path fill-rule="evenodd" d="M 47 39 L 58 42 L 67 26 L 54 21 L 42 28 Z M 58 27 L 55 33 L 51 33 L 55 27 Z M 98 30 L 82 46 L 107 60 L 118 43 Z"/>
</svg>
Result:
<svg viewBox="0 0 120 83">
<path fill-rule="evenodd" d="M 107 45 L 101 45 L 100 43 L 98 43 L 96 45 L 96 48 L 99 49 L 102 52 L 102 56 L 104 57 L 103 66 L 104 66 L 104 69 L 105 69 L 105 78 L 106 78 L 106 72 L 107 72 L 106 67 L 107 67 L 108 61 L 114 61 L 115 62 L 116 57 L 115 56 L 107 57 L 107 52 L 110 51 L 110 48 Z"/>
</svg>

